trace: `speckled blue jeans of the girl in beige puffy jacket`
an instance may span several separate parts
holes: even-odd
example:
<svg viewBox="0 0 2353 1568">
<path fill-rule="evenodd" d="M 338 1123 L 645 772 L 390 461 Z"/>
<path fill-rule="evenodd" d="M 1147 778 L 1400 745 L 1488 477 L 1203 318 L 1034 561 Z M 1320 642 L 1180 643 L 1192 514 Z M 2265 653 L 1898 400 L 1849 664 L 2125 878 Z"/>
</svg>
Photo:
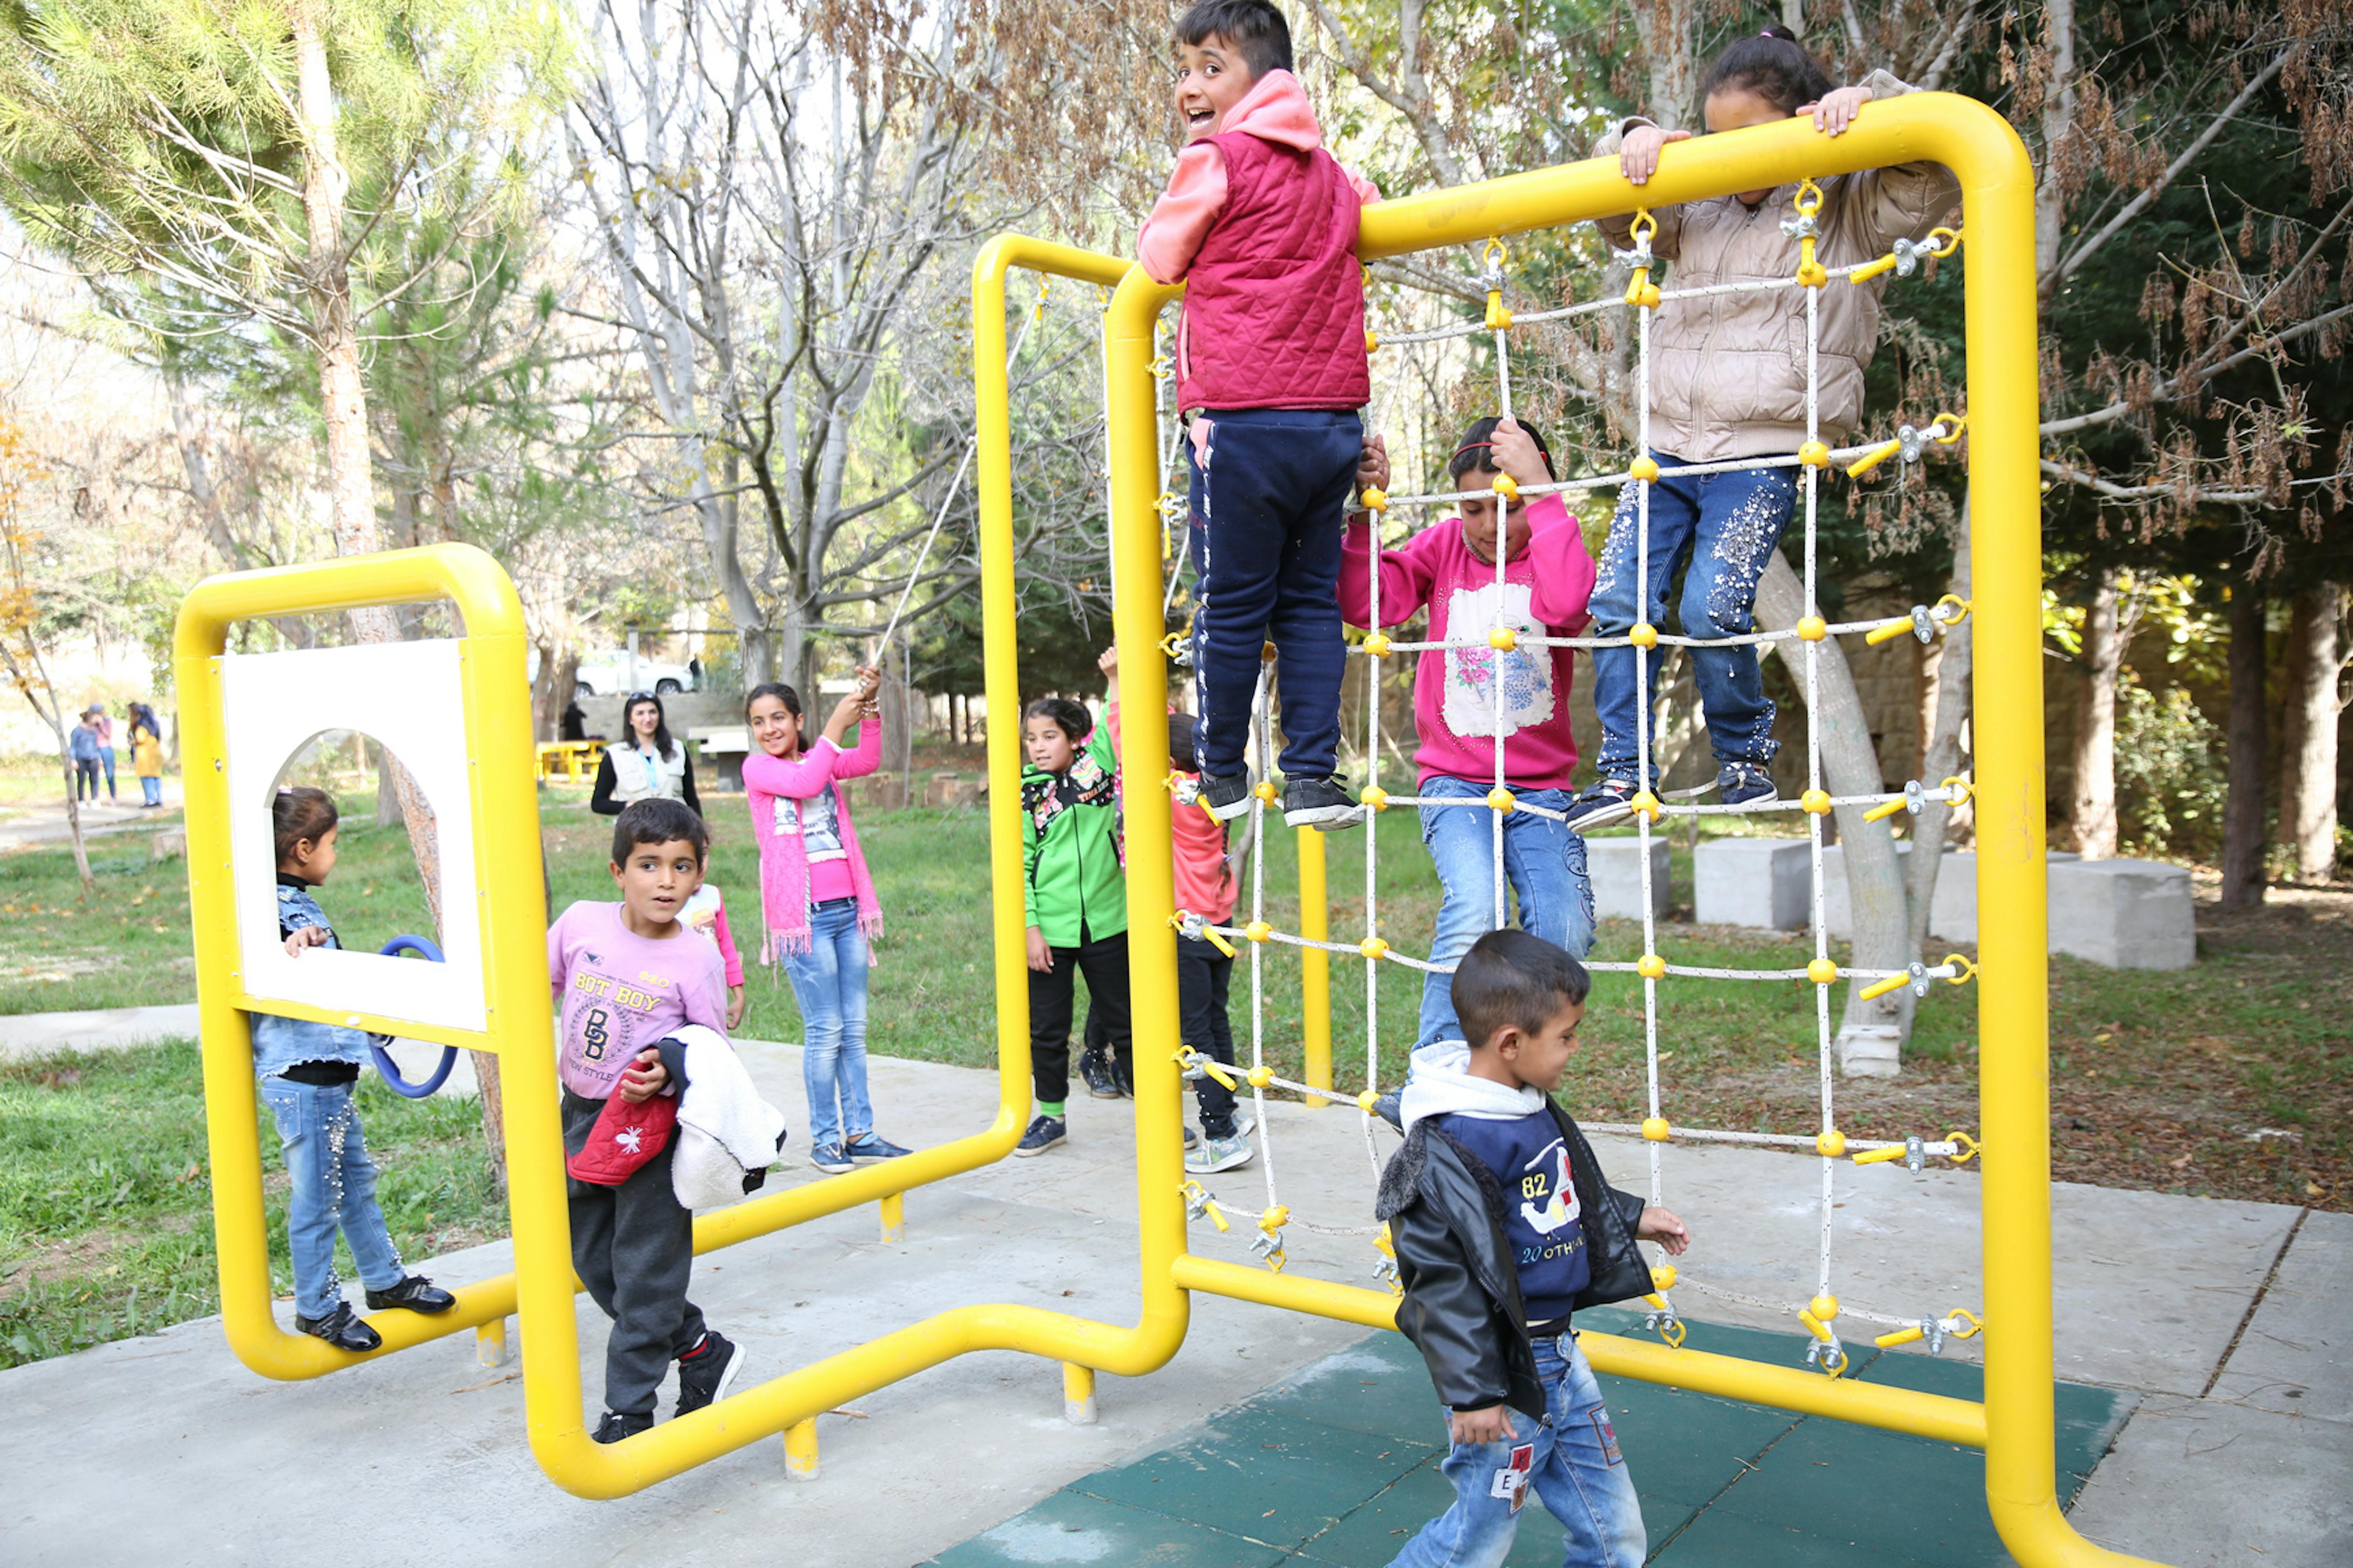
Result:
<svg viewBox="0 0 2353 1568">
<path fill-rule="evenodd" d="M 1661 468 L 1682 463 L 1671 451 L 1649 456 Z M 1619 491 L 1619 510 L 1609 520 L 1600 576 L 1593 581 L 1593 635 L 1624 637 L 1638 621 L 1659 625 L 1666 618 L 1668 583 L 1682 562 L 1689 562 L 1680 604 L 1685 637 L 1739 637 L 1755 630 L 1758 578 L 1798 505 L 1795 473 L 1739 468 L 1652 484 L 1647 585 L 1635 585 L 1635 491 L 1638 484 Z M 1767 764 L 1779 745 L 1772 738 L 1774 705 L 1765 696 L 1758 651 L 1744 644 L 1689 654 L 1715 764 Z M 1649 686 L 1659 684 L 1659 658 L 1657 649 L 1647 658 Z M 1593 708 L 1602 722 L 1602 750 L 1593 766 L 1602 778 L 1635 778 L 1635 719 L 1652 693 L 1635 689 L 1633 670 L 1633 649 L 1593 649 Z"/>
</svg>

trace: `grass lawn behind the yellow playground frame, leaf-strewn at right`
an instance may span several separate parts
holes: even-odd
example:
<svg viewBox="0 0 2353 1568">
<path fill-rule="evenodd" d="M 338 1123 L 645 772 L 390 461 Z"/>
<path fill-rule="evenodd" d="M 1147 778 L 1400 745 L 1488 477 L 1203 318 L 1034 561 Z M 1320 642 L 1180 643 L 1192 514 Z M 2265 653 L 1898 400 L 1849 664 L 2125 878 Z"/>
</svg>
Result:
<svg viewBox="0 0 2353 1568">
<path fill-rule="evenodd" d="M 711 802 L 713 879 L 755 945 L 758 872 L 741 797 Z M 348 799 L 341 863 L 322 903 L 346 945 L 424 931 L 424 898 L 398 827 Z M 887 936 L 873 971 L 878 1053 L 988 1065 L 995 1001 L 988 969 L 986 823 L 969 809 L 880 811 L 859 827 L 882 893 Z M 586 790 L 546 797 L 548 882 L 560 910 L 609 898 L 609 823 Z M 1329 839 L 1332 933 L 1362 931 L 1369 835 Z M 148 863 L 146 835 L 94 842 L 99 893 L 80 900 L 64 849 L 0 856 L 0 1013 L 191 1001 L 188 896 L 181 863 Z M 1379 823 L 1381 926 L 1426 940 L 1438 882 L 1405 811 Z M 1271 889 L 1294 886 L 1294 844 L 1275 835 Z M 1689 898 L 1689 860 L 1675 849 Z M 1297 929 L 1297 900 L 1268 898 Z M 2200 961 L 2179 973 L 2052 964 L 2052 1133 L 2064 1180 L 2353 1211 L 2353 896 L 2280 889 L 2261 910 L 2200 903 Z M 1598 957 L 1631 957 L 1640 933 L 1605 922 Z M 1678 961 L 1784 969 L 1798 936 L 1668 924 Z M 1838 952 L 1833 947 L 1833 952 Z M 1941 952 L 1941 950 L 1939 950 Z M 1247 957 L 1247 954 L 1245 954 Z M 1840 954 L 1842 957 L 1842 954 Z M 1334 959 L 1339 1084 L 1365 1074 L 1362 961 Z M 1379 1072 L 1402 1077 L 1421 978 L 1379 973 Z M 1266 950 L 1266 1053 L 1301 1070 L 1299 959 Z M 1814 1004 L 1802 983 L 1675 980 L 1664 987 L 1666 1114 L 1685 1126 L 1807 1131 L 1814 1124 Z M 1835 1006 L 1838 999 L 1833 999 Z M 798 1039 L 793 992 L 751 966 L 744 1034 Z M 1247 1051 L 1249 971 L 1235 976 L 1235 1037 Z M 1642 1114 L 1642 1011 L 1631 976 L 1600 976 L 1565 1100 L 1591 1121 Z M 369 1147 L 393 1234 L 409 1255 L 504 1232 L 471 1103 L 407 1103 L 367 1079 Z M 1941 1135 L 1977 1121 L 1977 992 L 1934 987 L 1899 1079 L 1838 1086 L 1849 1135 Z M 800 1124 L 798 1107 L 786 1107 Z M 214 1309 L 195 1051 L 49 1058 L 0 1065 L 0 1363 L 59 1354 Z M 268 1147 L 268 1140 L 264 1140 Z M 273 1178 L 282 1192 L 282 1175 Z M 280 1204 L 273 1215 L 282 1222 Z M 282 1246 L 280 1246 L 282 1258 Z M 278 1281 L 280 1288 L 289 1279 Z"/>
</svg>

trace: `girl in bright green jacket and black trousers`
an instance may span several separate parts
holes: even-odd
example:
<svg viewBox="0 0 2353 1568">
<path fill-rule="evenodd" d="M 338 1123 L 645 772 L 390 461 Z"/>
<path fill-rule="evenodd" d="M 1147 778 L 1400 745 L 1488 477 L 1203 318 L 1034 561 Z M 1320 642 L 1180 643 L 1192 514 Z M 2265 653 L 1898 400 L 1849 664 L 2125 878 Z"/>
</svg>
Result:
<svg viewBox="0 0 2353 1568">
<path fill-rule="evenodd" d="M 1120 757 L 1085 708 L 1059 696 L 1021 712 L 1021 910 L 1028 914 L 1031 1084 L 1038 1114 L 1014 1154 L 1068 1140 L 1073 973 L 1111 1023 L 1113 1072 L 1134 1081 L 1127 1030 L 1127 884 Z"/>
</svg>

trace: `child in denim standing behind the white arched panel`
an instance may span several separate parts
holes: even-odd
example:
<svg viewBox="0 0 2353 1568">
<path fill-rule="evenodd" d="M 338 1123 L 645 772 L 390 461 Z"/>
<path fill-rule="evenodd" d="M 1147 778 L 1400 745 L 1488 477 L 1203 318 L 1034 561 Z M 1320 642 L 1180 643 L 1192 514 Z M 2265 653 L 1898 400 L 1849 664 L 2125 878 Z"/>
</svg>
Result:
<svg viewBox="0 0 2353 1568">
<path fill-rule="evenodd" d="M 287 954 L 336 947 L 334 929 L 311 889 L 334 872 L 334 799 L 325 790 L 278 790 L 271 804 L 278 846 L 278 938 Z M 353 1086 L 367 1060 L 367 1034 L 308 1018 L 252 1013 L 254 1077 L 278 1121 L 292 1178 L 287 1246 L 294 1253 L 294 1326 L 336 1349 L 365 1354 L 384 1345 L 344 1300 L 334 1274 L 334 1232 L 367 1286 L 367 1307 L 447 1312 L 456 1298 L 400 1267 L 400 1251 L 376 1206 L 376 1161 L 367 1157 Z"/>
</svg>

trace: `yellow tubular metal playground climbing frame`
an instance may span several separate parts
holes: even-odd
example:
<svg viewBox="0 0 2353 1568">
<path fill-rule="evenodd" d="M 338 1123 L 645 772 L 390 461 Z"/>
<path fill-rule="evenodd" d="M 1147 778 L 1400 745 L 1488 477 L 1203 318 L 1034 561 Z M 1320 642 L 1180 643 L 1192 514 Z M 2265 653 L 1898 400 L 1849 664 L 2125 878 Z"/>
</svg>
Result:
<svg viewBox="0 0 2353 1568">
<path fill-rule="evenodd" d="M 1706 136 L 1673 148 L 1642 202 L 1673 205 L 1729 190 L 1786 183 L 1795 174 L 1845 174 L 1913 160 L 1948 165 L 1962 181 L 1969 247 L 1979 256 L 1967 299 L 1969 480 L 1974 520 L 1974 602 L 1979 691 L 1993 693 L 1977 724 L 1979 898 L 2005 910 L 1981 943 L 1981 1114 L 1986 1274 L 1986 1401 L 1967 1403 L 1880 1385 L 1828 1380 L 1812 1371 L 1586 1333 L 1591 1361 L 1614 1375 L 1668 1382 L 1732 1399 L 1831 1415 L 1986 1450 L 1986 1497 L 2005 1544 L 2031 1568 L 2047 1563 L 2129 1563 L 2085 1542 L 2059 1512 L 2052 1479 L 2052 1281 L 2047 1124 L 2047 959 L 2042 870 L 2042 670 L 2040 527 L 2035 442 L 2033 169 L 2009 127 L 1988 108 L 1944 94 L 1873 103 L 1845 136 L 1821 139 L 1805 122 Z M 1635 190 L 1614 162 L 1539 169 L 1511 179 L 1388 202 L 1365 214 L 1362 254 L 1395 256 L 1478 242 L 1529 228 L 1628 212 Z M 1155 654 L 1160 548 L 1155 524 L 1158 437 L 1153 428 L 1153 327 L 1176 299 L 1125 259 L 1005 235 L 974 263 L 974 378 L 981 503 L 981 607 L 988 708 L 1019 712 L 1014 654 L 1012 433 L 1007 397 L 1005 280 L 1014 268 L 1115 287 L 1106 313 L 1106 395 L 1111 407 L 1113 531 L 1118 550 L 1115 632 L 1132 710 L 1165 703 L 1167 675 Z M 1165 856 L 1132 856 L 1127 879 L 1129 964 L 1136 1030 L 1136 1220 L 1141 1312 L 1111 1326 L 1024 1305 L 969 1305 L 899 1328 L 718 1406 L 656 1425 L 624 1443 L 588 1439 L 581 1406 L 579 1340 L 562 1140 L 555 1112 L 555 1053 L 546 992 L 546 905 L 525 682 L 525 630 L 513 585 L 496 562 L 466 545 L 435 545 L 320 567 L 235 574 L 202 583 L 181 609 L 174 668 L 184 693 L 188 750 L 188 867 L 195 917 L 198 1001 L 205 1034 L 205 1095 L 214 1159 L 214 1215 L 221 1248 L 221 1305 L 231 1345 L 256 1373 L 315 1378 L 358 1361 L 285 1333 L 271 1312 L 261 1152 L 245 1011 L 259 1006 L 238 985 L 238 931 L 228 877 L 226 748 L 219 656 L 233 621 L 341 611 L 362 604 L 449 599 L 464 616 L 464 724 L 478 820 L 473 867 L 445 867 L 464 896 L 471 877 L 482 905 L 489 1030 L 431 1030 L 362 1016 L 362 1027 L 496 1051 L 506 1084 L 508 1199 L 515 1274 L 466 1286 L 438 1319 L 372 1319 L 393 1354 L 461 1328 L 496 1338 L 520 1312 L 525 1413 L 532 1450 L 548 1476 L 584 1497 L 619 1497 L 722 1453 L 781 1432 L 786 1465 L 814 1472 L 814 1418 L 864 1392 L 979 1349 L 1019 1349 L 1061 1361 L 1066 1396 L 1092 1394 L 1094 1371 L 1141 1375 L 1184 1345 L 1188 1293 L 1212 1291 L 1377 1328 L 1395 1326 L 1395 1302 L 1299 1274 L 1271 1274 L 1186 1248 L 1181 1079 L 1174 1053 L 1176 969 L 1172 867 Z M 207 762 L 212 766 L 207 766 Z M 1125 731 L 1127 778 L 1167 773 L 1158 724 Z M 998 999 L 998 1114 L 979 1133 L 807 1187 L 704 1215 L 696 1251 L 746 1241 L 842 1208 L 880 1201 L 885 1234 L 901 1194 L 1002 1159 L 1028 1114 L 1028 983 L 1021 914 L 1021 748 L 1016 724 L 988 726 L 991 917 Z M 1134 790 L 1127 830 L 1165 842 L 1169 797 Z M 1304 867 L 1311 870 L 1311 867 Z M 461 875 L 464 872 L 464 875 Z M 271 1011 L 346 1023 L 344 1013 L 271 1001 Z M 1313 1020 L 1306 1020 L 1313 1025 Z M 1322 1060 L 1329 1072 L 1329 1058 Z M 1327 1079 L 1320 1079 L 1327 1081 Z"/>
</svg>

